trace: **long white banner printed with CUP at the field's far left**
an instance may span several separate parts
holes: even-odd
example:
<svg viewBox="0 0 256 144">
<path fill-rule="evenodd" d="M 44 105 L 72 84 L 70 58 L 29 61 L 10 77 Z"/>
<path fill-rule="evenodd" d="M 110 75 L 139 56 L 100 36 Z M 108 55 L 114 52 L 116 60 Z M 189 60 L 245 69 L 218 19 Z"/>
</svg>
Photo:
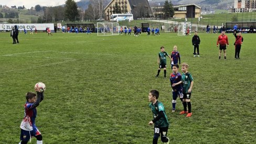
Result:
<svg viewBox="0 0 256 144">
<path fill-rule="evenodd" d="M 54 30 L 54 23 L 0 23 L 0 30 L 11 30 L 12 26 L 17 25 L 19 30 L 30 30 L 32 28 L 35 30 L 45 30 L 47 27 L 50 28 L 50 30 Z"/>
</svg>

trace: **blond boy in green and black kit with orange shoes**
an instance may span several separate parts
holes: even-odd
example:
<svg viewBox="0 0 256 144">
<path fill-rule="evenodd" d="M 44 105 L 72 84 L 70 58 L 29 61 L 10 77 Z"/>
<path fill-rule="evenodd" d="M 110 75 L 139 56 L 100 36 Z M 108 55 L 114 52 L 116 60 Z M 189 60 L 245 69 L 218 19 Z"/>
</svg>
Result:
<svg viewBox="0 0 256 144">
<path fill-rule="evenodd" d="M 186 117 L 190 117 L 192 115 L 191 113 L 191 92 L 194 84 L 193 77 L 188 73 L 188 64 L 183 63 L 182 64 L 182 82 L 183 82 L 183 106 L 184 111 L 180 112 L 179 114 L 187 114 Z M 187 106 L 188 106 L 188 112 L 187 112 Z"/>
</svg>

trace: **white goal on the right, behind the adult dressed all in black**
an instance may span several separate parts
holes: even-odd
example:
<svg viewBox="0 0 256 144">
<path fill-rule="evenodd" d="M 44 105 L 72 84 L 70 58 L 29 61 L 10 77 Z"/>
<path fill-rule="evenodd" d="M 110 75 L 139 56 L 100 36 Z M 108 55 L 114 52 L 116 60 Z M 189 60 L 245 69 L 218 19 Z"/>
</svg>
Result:
<svg viewBox="0 0 256 144">
<path fill-rule="evenodd" d="M 188 28 L 189 28 L 189 35 L 191 35 L 191 32 L 198 31 L 197 26 L 192 25 L 191 22 L 179 22 L 178 35 L 186 35 Z"/>
</svg>

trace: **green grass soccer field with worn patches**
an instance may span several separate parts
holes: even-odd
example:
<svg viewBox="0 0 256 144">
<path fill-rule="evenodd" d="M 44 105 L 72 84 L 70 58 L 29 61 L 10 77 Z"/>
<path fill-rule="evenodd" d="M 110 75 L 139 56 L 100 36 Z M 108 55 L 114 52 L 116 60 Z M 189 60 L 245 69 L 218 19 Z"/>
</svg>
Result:
<svg viewBox="0 0 256 144">
<path fill-rule="evenodd" d="M 241 59 L 234 59 L 234 37 L 228 34 L 227 61 L 218 61 L 218 34 L 199 33 L 201 57 L 193 57 L 192 35 L 20 32 L 20 44 L 12 44 L 9 33 L 1 32 L 0 143 L 19 142 L 25 94 L 39 81 L 46 84 L 36 118 L 44 143 L 152 143 L 147 98 L 152 89 L 165 105 L 170 143 L 256 143 L 256 36 L 242 35 Z M 192 117 L 178 114 L 180 102 L 171 112 L 169 79 L 163 70 L 154 77 L 162 45 L 169 54 L 177 45 L 182 63 L 189 64 Z"/>
</svg>

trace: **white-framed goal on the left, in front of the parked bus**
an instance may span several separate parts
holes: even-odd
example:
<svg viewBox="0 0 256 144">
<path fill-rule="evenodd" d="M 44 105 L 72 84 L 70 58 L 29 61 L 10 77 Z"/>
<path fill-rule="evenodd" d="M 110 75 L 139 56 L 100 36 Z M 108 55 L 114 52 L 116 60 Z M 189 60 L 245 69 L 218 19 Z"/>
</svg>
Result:
<svg viewBox="0 0 256 144">
<path fill-rule="evenodd" d="M 97 22 L 98 36 L 119 35 L 118 22 Z"/>
</svg>

